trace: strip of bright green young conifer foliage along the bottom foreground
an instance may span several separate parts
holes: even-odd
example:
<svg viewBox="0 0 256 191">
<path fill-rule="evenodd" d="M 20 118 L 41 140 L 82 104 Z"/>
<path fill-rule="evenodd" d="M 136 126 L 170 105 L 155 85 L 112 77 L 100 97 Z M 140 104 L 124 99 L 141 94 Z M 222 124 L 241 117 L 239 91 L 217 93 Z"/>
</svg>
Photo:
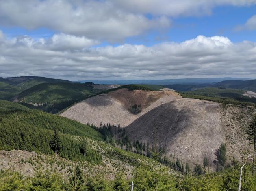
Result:
<svg viewBox="0 0 256 191">
<path fill-rule="evenodd" d="M 117 173 L 113 180 L 106 180 L 100 174 L 88 176 L 79 166 L 70 178 L 64 179 L 61 174 L 38 169 L 35 176 L 25 177 L 17 172 L 0 174 L 1 191 L 130 191 L 134 182 L 134 191 L 237 191 L 241 165 L 236 165 L 218 173 L 205 173 L 201 176 L 175 176 L 161 168 L 156 174 L 150 167 L 135 169 L 130 179 Z M 247 166 L 250 169 L 251 166 Z M 241 191 L 255 191 L 256 176 L 246 173 L 241 182 Z"/>
</svg>

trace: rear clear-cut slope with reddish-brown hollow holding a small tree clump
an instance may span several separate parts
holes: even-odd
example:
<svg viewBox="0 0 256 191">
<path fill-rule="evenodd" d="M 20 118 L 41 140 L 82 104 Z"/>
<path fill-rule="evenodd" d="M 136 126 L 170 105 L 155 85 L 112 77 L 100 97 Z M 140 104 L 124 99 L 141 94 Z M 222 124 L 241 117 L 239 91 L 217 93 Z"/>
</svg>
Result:
<svg viewBox="0 0 256 191">
<path fill-rule="evenodd" d="M 179 98 L 180 95 L 173 91 L 129 91 L 122 88 L 75 104 L 61 113 L 61 116 L 98 127 L 100 122 L 126 127 L 154 107 Z M 131 112 L 131 106 L 134 104 L 141 105 L 141 112 L 137 115 Z"/>
</svg>

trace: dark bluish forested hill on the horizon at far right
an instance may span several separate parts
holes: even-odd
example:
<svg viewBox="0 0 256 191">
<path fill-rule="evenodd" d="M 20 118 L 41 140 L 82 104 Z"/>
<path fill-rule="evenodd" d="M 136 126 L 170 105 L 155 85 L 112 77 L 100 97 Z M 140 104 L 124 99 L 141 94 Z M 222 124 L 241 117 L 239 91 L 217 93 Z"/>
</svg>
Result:
<svg viewBox="0 0 256 191">
<path fill-rule="evenodd" d="M 215 84 L 216 87 L 243 89 L 256 92 L 256 80 L 225 80 Z"/>
</svg>

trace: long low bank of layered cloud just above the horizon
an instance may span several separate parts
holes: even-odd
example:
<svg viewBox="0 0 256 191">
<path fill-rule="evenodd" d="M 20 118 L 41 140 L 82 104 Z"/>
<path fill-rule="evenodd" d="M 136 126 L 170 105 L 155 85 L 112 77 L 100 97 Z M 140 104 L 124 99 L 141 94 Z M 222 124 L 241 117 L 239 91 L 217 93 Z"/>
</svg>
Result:
<svg viewBox="0 0 256 191">
<path fill-rule="evenodd" d="M 58 45 L 53 40 L 58 35 L 50 39 L 23 36 L 2 40 L 0 76 L 70 80 L 256 76 L 255 42 L 234 44 L 223 36 L 198 36 L 181 43 L 165 42 L 152 47 L 123 44 L 94 48 L 88 47 L 85 40 L 85 44 L 72 49 L 61 49 L 56 48 Z M 68 40 L 64 42 L 56 38 L 57 44 L 76 44 L 76 38 L 64 35 L 65 38 Z"/>
</svg>

